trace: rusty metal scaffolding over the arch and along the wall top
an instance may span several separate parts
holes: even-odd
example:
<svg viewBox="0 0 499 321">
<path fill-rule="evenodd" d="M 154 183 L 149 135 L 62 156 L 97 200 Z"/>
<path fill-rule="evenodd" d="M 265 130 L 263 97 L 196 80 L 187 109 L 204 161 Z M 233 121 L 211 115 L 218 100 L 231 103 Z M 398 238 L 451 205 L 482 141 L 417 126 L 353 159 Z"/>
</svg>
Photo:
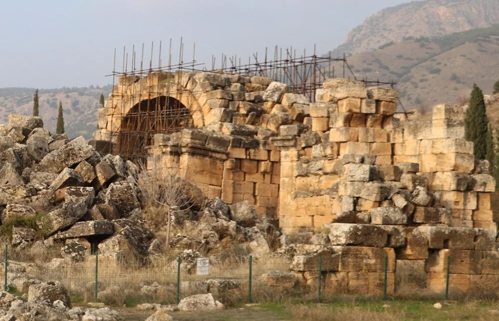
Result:
<svg viewBox="0 0 499 321">
<path fill-rule="evenodd" d="M 167 56 L 168 64 L 164 64 L 162 61 L 162 43 L 159 43 L 157 60 L 153 59 L 154 49 L 154 42 L 152 42 L 149 61 L 147 61 L 147 58 L 144 57 L 144 44 L 142 44 L 140 60 L 138 61 L 135 46 L 132 47 L 130 54 L 123 47 L 121 71 L 116 68 L 116 49 L 114 49 L 113 71 L 108 75 L 113 78 L 113 94 L 109 102 L 112 106 L 112 115 L 108 118 L 108 123 L 109 121 L 111 123 L 107 127 L 111 130 L 106 131 L 102 139 L 109 141 L 108 151 L 115 155 L 121 155 L 126 160 L 144 160 L 145 148 L 151 145 L 155 134 L 169 134 L 178 132 L 183 128 L 194 127 L 191 106 L 184 106 L 179 99 L 186 94 L 186 91 L 189 91 L 190 94 L 194 94 L 194 92 L 181 86 L 181 77 L 175 76 L 178 71 L 212 71 L 269 77 L 275 81 L 286 83 L 290 92 L 303 94 L 311 102 L 315 100 L 315 90 L 322 86 L 326 78 L 341 76 L 357 80 L 345 55 L 341 58 L 333 58 L 330 55 L 317 56 L 315 45 L 311 54 L 307 54 L 305 50 L 297 54 L 293 47 L 283 50 L 275 46 L 273 54 L 270 55 L 265 48 L 263 57 L 258 57 L 258 53 L 255 53 L 248 58 L 247 63 L 243 63 L 242 59 L 235 55 L 222 54 L 220 62 L 217 64 L 216 57 L 212 56 L 211 68 L 209 69 L 207 69 L 206 64 L 196 61 L 195 43 L 193 44 L 192 60 L 184 61 L 182 38 L 178 62 L 176 63 L 173 63 L 171 39 Z M 334 62 L 341 63 L 342 68 L 339 73 L 332 66 Z M 156 88 L 149 88 L 147 94 L 141 93 L 141 79 L 153 73 L 156 74 L 155 76 L 161 77 L 160 81 L 156 82 Z M 117 77 L 120 76 L 125 76 L 124 78 L 128 80 L 128 83 L 117 83 Z M 360 81 L 363 81 L 366 86 L 389 85 L 393 87 L 395 85 L 394 82 L 380 82 L 379 80 L 360 79 Z M 136 82 L 139 82 L 139 88 L 135 92 L 131 92 L 130 87 Z M 120 102 L 120 106 L 115 104 L 118 102 Z M 125 106 L 125 102 L 128 106 Z M 113 122 L 118 122 L 118 124 L 113 124 Z"/>
</svg>

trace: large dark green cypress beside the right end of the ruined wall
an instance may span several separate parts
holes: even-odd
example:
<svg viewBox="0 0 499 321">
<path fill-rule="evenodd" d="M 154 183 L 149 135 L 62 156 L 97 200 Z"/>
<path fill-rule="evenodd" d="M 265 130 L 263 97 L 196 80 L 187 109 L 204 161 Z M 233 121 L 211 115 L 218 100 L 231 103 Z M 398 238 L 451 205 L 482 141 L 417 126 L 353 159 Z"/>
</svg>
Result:
<svg viewBox="0 0 499 321">
<path fill-rule="evenodd" d="M 473 152 L 477 160 L 484 160 L 487 154 L 489 121 L 485 111 L 482 89 L 474 84 L 465 116 L 465 137 L 468 141 L 474 143 Z"/>
</svg>

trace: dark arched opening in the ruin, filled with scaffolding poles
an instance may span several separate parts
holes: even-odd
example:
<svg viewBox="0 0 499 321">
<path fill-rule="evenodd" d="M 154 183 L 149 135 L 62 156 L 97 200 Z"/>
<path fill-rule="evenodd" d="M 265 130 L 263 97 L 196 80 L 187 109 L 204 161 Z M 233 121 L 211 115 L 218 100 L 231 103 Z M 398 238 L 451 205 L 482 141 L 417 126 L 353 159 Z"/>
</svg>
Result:
<svg viewBox="0 0 499 321">
<path fill-rule="evenodd" d="M 125 160 L 145 160 L 146 146 L 154 134 L 170 134 L 183 128 L 193 128 L 189 109 L 169 96 L 142 100 L 123 116 L 114 147 L 114 154 Z"/>
</svg>

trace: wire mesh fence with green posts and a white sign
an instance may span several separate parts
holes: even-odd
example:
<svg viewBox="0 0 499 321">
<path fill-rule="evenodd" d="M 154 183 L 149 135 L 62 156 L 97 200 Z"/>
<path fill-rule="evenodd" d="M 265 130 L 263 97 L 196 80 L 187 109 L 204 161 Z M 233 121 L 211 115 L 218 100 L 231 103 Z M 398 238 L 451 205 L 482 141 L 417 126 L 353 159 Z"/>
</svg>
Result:
<svg viewBox="0 0 499 321">
<path fill-rule="evenodd" d="M 333 270 L 324 264 L 322 256 L 309 271 L 291 271 L 289 258 L 272 255 L 233 256 L 225 261 L 179 256 L 141 265 L 98 253 L 79 263 L 55 258 L 42 268 L 29 265 L 29 278 L 19 281 L 19 273 L 24 270 L 16 261 L 8 260 L 7 247 L 2 250 L 1 257 L 7 259 L 1 261 L 4 289 L 25 293 L 30 278 L 59 281 L 76 302 L 114 306 L 177 304 L 182 298 L 206 293 L 225 304 L 288 299 L 328 302 L 345 296 L 448 299 L 495 295 L 498 287 L 494 285 L 499 285 L 499 275 L 452 273 L 459 267 L 452 267 L 450 257 L 443 264 L 443 272 L 422 271 L 417 275 L 396 272 L 388 257 L 383 258 L 381 269 L 370 272 L 362 266 L 357 271 Z"/>
</svg>

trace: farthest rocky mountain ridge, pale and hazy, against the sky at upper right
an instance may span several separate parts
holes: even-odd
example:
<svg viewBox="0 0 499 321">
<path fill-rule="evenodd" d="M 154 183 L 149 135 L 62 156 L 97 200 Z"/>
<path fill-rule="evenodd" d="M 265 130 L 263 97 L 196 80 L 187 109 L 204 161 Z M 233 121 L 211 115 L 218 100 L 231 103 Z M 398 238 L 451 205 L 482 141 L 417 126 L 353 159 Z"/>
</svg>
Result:
<svg viewBox="0 0 499 321">
<path fill-rule="evenodd" d="M 332 51 L 359 53 L 398 42 L 404 37 L 435 37 L 499 23 L 498 0 L 412 1 L 381 10 L 352 29 Z"/>
</svg>

